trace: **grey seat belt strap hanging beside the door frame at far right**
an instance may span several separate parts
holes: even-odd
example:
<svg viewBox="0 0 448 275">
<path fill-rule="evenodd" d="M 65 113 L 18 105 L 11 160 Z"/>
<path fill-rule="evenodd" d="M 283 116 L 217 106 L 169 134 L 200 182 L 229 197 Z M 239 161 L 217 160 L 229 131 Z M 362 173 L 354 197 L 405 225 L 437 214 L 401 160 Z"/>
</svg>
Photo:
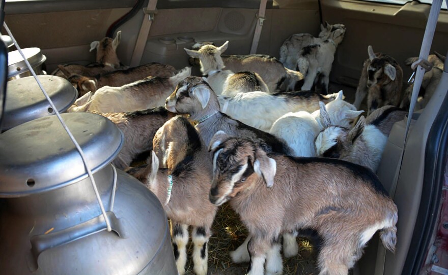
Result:
<svg viewBox="0 0 448 275">
<path fill-rule="evenodd" d="M 448 0 L 445 0 L 448 3 Z M 431 49 L 432 40 L 434 38 L 434 32 L 437 25 L 437 19 L 439 17 L 440 9 L 442 6 L 442 0 L 434 0 L 431 6 L 431 11 L 429 13 L 428 22 L 426 24 L 425 35 L 423 37 L 422 48 L 420 49 L 419 60 L 427 60 L 429 51 Z M 403 156 L 406 148 L 407 135 L 409 132 L 409 127 L 412 121 L 412 115 L 414 113 L 415 103 L 417 101 L 418 92 L 420 91 L 420 87 L 422 86 L 423 76 L 426 70 L 422 66 L 422 63 L 419 63 L 416 67 L 414 87 L 412 89 L 412 97 L 409 107 L 408 120 L 406 122 L 406 129 L 404 134 L 404 142 L 403 142 L 403 150 L 400 155 L 400 159 L 398 161 L 397 169 L 395 170 L 394 180 L 392 185 L 390 186 L 389 194 L 392 199 L 395 197 L 395 193 L 397 190 L 398 178 L 400 176 L 401 166 L 403 164 Z M 412 78 L 412 77 L 411 77 Z M 384 275 L 384 267 L 386 262 L 386 250 L 380 244 L 378 244 L 378 252 L 377 252 L 377 261 L 375 266 L 375 275 Z"/>
</svg>

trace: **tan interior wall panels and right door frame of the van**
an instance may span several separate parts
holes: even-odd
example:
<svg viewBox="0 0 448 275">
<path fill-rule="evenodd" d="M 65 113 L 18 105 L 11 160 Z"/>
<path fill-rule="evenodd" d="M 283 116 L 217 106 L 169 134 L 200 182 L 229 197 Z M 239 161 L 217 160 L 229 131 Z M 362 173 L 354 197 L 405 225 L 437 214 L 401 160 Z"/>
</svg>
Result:
<svg viewBox="0 0 448 275">
<path fill-rule="evenodd" d="M 362 63 L 368 58 L 368 45 L 376 52 L 393 56 L 403 68 L 403 81 L 407 81 L 412 70 L 404 60 L 419 55 L 431 5 L 419 1 L 384 2 L 394 3 L 268 0 L 257 53 L 278 58 L 279 48 L 293 33 L 317 37 L 321 23 L 342 23 L 347 31 L 335 53 L 329 93 L 342 89 L 346 100 L 353 102 Z M 48 74 L 58 64 L 93 62 L 95 52 L 89 51 L 90 43 L 114 37 L 118 30 L 122 31 L 118 57 L 129 65 L 144 17 L 153 16 L 153 21 L 139 63 L 160 62 L 177 69 L 189 65 L 184 48 L 191 48 L 195 42 L 212 41 L 220 46 L 229 41 L 226 54 L 249 54 L 259 23 L 259 0 L 158 0 L 154 13 L 144 12 L 147 5 L 148 1 L 140 0 L 7 0 L 5 22 L 21 48 L 42 49 Z M 445 55 L 447 38 L 448 11 L 444 6 L 431 52 Z M 192 74 L 200 76 L 199 67 L 194 67 Z M 446 166 L 447 76 L 445 65 L 436 94 L 425 109 L 412 116 L 405 145 L 406 121 L 394 126 L 378 169 L 381 182 L 399 209 L 397 251 L 386 252 L 375 234 L 352 274 L 418 274 L 423 269 L 431 270 L 433 265 L 448 268 L 448 261 L 431 257 L 436 250 L 434 232 L 438 228 Z M 402 150 L 403 162 L 397 173 Z M 209 274 L 214 274 L 215 270 L 210 269 Z M 299 267 L 291 274 L 305 273 Z"/>
</svg>

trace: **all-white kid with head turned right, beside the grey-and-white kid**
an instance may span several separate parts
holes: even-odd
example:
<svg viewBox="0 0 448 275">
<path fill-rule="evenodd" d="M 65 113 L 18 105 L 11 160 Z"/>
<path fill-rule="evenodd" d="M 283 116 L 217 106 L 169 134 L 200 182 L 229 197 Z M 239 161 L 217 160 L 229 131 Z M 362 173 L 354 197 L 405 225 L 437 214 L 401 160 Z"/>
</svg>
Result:
<svg viewBox="0 0 448 275">
<path fill-rule="evenodd" d="M 320 109 L 313 112 L 297 112 L 287 113 L 281 118 L 277 119 L 270 129 L 270 133 L 284 139 L 289 147 L 294 151 L 292 154 L 295 157 L 314 157 L 316 150 L 314 148 L 314 140 L 321 130 L 323 130 L 324 123 L 321 115 L 325 115 L 325 110 L 328 112 L 330 121 L 333 125 L 340 125 L 343 127 L 350 127 L 351 123 L 363 111 L 356 111 L 356 108 L 343 100 L 343 92 L 340 91 L 338 96 L 333 101 L 324 105 L 320 103 Z"/>
</svg>

